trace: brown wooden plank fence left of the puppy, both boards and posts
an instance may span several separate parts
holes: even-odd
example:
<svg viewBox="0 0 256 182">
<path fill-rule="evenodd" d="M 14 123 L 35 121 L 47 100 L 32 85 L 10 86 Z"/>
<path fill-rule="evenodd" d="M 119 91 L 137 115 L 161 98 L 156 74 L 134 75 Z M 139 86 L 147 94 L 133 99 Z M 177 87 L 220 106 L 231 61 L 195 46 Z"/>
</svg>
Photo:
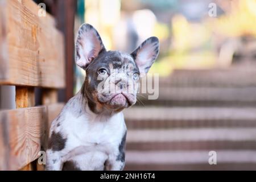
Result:
<svg viewBox="0 0 256 182">
<path fill-rule="evenodd" d="M 16 88 L 16 109 L 0 111 L 0 170 L 43 169 L 36 160 L 63 107 L 57 103 L 57 89 L 65 87 L 63 34 L 38 10 L 31 0 L 0 1 L 0 85 Z M 42 106 L 35 106 L 35 87 L 43 90 Z"/>
</svg>

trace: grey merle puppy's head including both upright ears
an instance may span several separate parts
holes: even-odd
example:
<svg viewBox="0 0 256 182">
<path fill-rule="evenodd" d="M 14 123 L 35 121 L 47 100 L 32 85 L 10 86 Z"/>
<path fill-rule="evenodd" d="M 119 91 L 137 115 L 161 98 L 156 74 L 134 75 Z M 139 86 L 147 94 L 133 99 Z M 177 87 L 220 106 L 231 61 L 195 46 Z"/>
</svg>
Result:
<svg viewBox="0 0 256 182">
<path fill-rule="evenodd" d="M 146 75 L 159 52 L 156 37 L 132 53 L 106 51 L 97 30 L 82 24 L 76 39 L 76 64 L 86 71 L 81 92 L 94 113 L 119 111 L 137 101 L 139 77 Z"/>
</svg>

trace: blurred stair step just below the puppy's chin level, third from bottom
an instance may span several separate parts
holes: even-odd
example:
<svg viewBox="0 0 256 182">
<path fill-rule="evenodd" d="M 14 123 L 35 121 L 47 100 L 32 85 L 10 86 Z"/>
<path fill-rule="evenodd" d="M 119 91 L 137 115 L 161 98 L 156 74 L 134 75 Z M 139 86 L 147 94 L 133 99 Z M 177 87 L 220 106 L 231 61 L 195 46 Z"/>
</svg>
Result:
<svg viewBox="0 0 256 182">
<path fill-rule="evenodd" d="M 128 129 L 256 127 L 254 107 L 131 107 L 124 114 Z"/>
</svg>

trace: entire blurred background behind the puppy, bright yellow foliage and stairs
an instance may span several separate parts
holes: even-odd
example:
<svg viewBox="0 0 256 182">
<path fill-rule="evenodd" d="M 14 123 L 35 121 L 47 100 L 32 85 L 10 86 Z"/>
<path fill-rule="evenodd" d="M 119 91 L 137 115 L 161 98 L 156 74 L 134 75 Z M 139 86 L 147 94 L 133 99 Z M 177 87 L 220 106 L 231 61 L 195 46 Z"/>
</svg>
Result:
<svg viewBox="0 0 256 182">
<path fill-rule="evenodd" d="M 125 169 L 256 169 L 255 0 L 77 2 L 75 32 L 92 24 L 107 49 L 160 40 L 159 98 L 125 110 Z"/>
</svg>

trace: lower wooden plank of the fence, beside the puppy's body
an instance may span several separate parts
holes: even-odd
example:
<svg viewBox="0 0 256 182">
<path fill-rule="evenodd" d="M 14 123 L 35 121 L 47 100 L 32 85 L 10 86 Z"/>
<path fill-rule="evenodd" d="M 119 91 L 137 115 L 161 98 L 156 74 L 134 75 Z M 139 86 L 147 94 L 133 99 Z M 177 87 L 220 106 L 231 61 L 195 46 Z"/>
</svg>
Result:
<svg viewBox="0 0 256 182">
<path fill-rule="evenodd" d="M 46 145 L 48 118 L 56 117 L 62 107 L 55 104 L 0 111 L 0 159 L 6 158 L 0 162 L 0 170 L 17 170 L 39 157 Z"/>
</svg>

